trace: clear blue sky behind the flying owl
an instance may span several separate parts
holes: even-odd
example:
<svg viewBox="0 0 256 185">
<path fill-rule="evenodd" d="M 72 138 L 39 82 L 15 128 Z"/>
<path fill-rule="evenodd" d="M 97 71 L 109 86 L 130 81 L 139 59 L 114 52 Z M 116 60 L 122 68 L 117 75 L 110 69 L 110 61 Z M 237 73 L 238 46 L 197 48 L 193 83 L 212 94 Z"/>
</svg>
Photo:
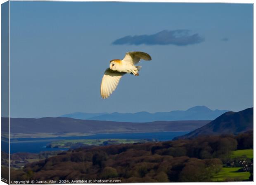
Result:
<svg viewBox="0 0 256 185">
<path fill-rule="evenodd" d="M 10 22 L 11 117 L 253 106 L 252 4 L 11 1 Z M 128 51 L 152 61 L 102 99 Z"/>
</svg>

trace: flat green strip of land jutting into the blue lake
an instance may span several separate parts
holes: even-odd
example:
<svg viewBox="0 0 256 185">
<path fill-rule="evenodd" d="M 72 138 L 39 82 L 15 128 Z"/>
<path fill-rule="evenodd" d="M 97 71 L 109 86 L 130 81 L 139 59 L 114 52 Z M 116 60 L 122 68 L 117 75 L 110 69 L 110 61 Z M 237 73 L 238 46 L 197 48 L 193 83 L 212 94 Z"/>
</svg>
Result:
<svg viewBox="0 0 256 185">
<path fill-rule="evenodd" d="M 50 143 L 51 148 L 58 146 L 58 148 L 69 148 L 72 144 L 81 143 L 84 145 L 96 145 L 100 146 L 104 141 L 112 141 L 115 143 L 138 143 L 138 142 L 147 142 L 143 139 L 74 139 L 74 140 L 62 140 L 62 141 L 53 141 Z"/>
</svg>

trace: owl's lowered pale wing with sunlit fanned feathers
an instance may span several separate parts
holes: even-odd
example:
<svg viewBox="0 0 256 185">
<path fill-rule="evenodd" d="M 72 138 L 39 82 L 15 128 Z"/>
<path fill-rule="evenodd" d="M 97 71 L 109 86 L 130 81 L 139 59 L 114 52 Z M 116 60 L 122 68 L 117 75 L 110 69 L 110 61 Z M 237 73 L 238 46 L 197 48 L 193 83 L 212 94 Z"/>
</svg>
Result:
<svg viewBox="0 0 256 185">
<path fill-rule="evenodd" d="M 100 95 L 103 99 L 108 98 L 113 91 L 116 89 L 121 77 L 125 73 L 120 73 L 117 71 L 113 71 L 111 69 L 106 69 L 100 86 Z"/>
</svg>

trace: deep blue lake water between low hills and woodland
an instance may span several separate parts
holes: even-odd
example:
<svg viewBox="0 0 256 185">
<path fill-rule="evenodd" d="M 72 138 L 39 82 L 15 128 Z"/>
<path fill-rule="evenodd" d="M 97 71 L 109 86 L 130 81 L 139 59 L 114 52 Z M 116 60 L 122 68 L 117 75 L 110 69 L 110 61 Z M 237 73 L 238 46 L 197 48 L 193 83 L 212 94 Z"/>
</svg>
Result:
<svg viewBox="0 0 256 185">
<path fill-rule="evenodd" d="M 39 153 L 41 151 L 68 150 L 67 148 L 45 148 L 48 143 L 58 140 L 70 139 L 158 139 L 159 141 L 170 141 L 176 136 L 189 132 L 149 132 L 149 133 L 124 133 L 124 134 L 95 134 L 92 136 L 70 136 L 51 138 L 18 138 L 11 139 L 10 153 L 28 152 Z M 1 148 L 8 153 L 8 142 L 1 139 Z"/>
</svg>

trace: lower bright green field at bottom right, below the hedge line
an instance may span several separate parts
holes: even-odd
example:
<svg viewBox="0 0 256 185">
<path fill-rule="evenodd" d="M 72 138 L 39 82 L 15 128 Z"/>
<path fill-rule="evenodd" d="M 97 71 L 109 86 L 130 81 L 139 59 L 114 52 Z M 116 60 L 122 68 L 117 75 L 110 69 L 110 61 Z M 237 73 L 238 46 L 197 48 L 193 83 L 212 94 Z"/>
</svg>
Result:
<svg viewBox="0 0 256 185">
<path fill-rule="evenodd" d="M 225 181 L 226 178 L 237 178 L 239 180 L 249 179 L 250 172 L 237 172 L 241 167 L 223 167 L 221 171 L 212 178 L 213 181 Z"/>
</svg>

